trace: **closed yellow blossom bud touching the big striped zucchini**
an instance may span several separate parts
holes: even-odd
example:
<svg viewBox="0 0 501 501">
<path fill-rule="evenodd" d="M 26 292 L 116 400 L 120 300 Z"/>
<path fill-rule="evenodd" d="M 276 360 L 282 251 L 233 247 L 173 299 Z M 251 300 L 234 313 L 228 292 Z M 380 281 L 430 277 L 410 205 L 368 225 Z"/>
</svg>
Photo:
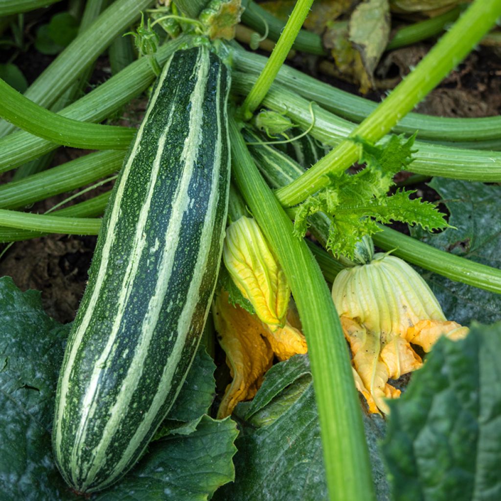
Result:
<svg viewBox="0 0 501 501">
<path fill-rule="evenodd" d="M 272 330 L 284 327 L 291 289 L 255 219 L 242 216 L 226 228 L 222 256 L 258 317 Z"/>
</svg>

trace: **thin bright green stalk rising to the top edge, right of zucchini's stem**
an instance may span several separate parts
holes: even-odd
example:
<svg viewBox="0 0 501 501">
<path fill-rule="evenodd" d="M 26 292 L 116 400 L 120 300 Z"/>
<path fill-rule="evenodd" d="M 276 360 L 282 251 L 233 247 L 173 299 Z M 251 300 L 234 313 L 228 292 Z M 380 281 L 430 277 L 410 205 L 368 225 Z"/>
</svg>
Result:
<svg viewBox="0 0 501 501">
<path fill-rule="evenodd" d="M 313 0 L 297 0 L 291 16 L 285 25 L 284 31 L 280 35 L 277 45 L 273 49 L 273 52 L 258 77 L 258 80 L 254 84 L 253 88 L 250 89 L 250 92 L 243 101 L 241 110 L 242 116 L 245 120 L 250 120 L 252 118 L 254 111 L 266 96 L 268 89 L 275 80 L 281 66 L 284 64 L 299 30 L 303 26 L 303 23 L 310 12 L 312 4 Z"/>
</svg>

